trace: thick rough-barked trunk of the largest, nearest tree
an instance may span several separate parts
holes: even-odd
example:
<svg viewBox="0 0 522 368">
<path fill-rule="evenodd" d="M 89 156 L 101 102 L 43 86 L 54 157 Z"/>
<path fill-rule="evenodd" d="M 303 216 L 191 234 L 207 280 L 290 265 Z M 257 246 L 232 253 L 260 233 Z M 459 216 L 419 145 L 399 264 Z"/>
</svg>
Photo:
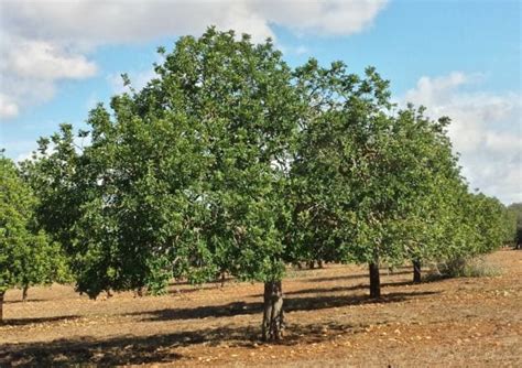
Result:
<svg viewBox="0 0 522 368">
<path fill-rule="evenodd" d="M 283 286 L 281 281 L 264 283 L 263 340 L 279 340 L 283 337 Z"/>
</svg>

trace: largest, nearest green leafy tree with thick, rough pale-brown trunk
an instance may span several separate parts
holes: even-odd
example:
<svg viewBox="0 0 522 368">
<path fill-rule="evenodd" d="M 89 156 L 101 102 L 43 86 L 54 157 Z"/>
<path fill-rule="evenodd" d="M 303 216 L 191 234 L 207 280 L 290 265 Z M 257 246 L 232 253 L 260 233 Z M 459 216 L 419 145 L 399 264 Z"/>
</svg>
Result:
<svg viewBox="0 0 522 368">
<path fill-rule="evenodd" d="M 209 29 L 181 37 L 156 77 L 94 109 L 91 144 L 70 127 L 41 141 L 47 224 L 70 255 L 78 291 L 193 282 L 228 272 L 265 282 L 263 336 L 282 336 L 286 159 L 300 108 L 270 41 Z M 59 194 L 56 194 L 59 193 Z M 63 204 L 56 202 L 59 195 Z M 45 205 L 41 207 L 44 213 Z"/>
</svg>

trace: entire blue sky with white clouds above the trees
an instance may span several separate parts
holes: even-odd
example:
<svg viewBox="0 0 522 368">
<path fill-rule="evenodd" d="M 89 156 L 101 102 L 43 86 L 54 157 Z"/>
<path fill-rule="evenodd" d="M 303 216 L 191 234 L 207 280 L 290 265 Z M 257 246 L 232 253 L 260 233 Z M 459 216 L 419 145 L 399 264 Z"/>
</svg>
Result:
<svg viewBox="0 0 522 368">
<path fill-rule="evenodd" d="M 209 24 L 272 36 L 293 66 L 374 65 L 399 104 L 448 115 L 471 187 L 522 202 L 521 2 L 0 0 L 0 148 L 20 160 L 61 122 L 152 76 L 159 45 Z"/>
</svg>

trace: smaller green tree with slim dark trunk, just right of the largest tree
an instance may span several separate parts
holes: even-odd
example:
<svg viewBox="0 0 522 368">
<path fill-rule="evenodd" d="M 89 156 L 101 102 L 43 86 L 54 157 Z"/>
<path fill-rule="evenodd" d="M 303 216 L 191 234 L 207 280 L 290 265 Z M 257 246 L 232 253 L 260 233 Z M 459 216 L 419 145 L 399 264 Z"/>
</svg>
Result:
<svg viewBox="0 0 522 368">
<path fill-rule="evenodd" d="M 300 255 L 368 263 L 380 295 L 380 262 L 418 262 L 434 245 L 444 181 L 459 181 L 445 127 L 423 109 L 394 112 L 388 82 L 342 63 L 297 69 L 309 107 L 292 166 Z M 433 207 L 433 208 L 432 208 Z"/>
</svg>

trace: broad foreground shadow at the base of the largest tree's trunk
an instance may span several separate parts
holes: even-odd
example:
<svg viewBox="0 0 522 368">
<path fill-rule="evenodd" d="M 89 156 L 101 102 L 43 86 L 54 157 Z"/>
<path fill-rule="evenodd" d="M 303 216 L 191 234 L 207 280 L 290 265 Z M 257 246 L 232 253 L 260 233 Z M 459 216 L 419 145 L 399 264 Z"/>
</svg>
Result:
<svg viewBox="0 0 522 368">
<path fill-rule="evenodd" d="M 358 334 L 366 326 L 339 323 L 325 325 L 291 325 L 284 339 L 274 344 L 292 346 L 313 344 L 334 338 L 339 333 Z M 0 366 L 51 367 L 51 366 L 97 366 L 141 364 L 182 364 L 191 357 L 176 351 L 182 347 L 204 345 L 257 349 L 263 346 L 258 327 L 217 327 L 186 331 L 154 336 L 122 336 L 107 339 L 93 337 L 63 338 L 46 343 L 7 344 L 0 346 Z"/>
</svg>

